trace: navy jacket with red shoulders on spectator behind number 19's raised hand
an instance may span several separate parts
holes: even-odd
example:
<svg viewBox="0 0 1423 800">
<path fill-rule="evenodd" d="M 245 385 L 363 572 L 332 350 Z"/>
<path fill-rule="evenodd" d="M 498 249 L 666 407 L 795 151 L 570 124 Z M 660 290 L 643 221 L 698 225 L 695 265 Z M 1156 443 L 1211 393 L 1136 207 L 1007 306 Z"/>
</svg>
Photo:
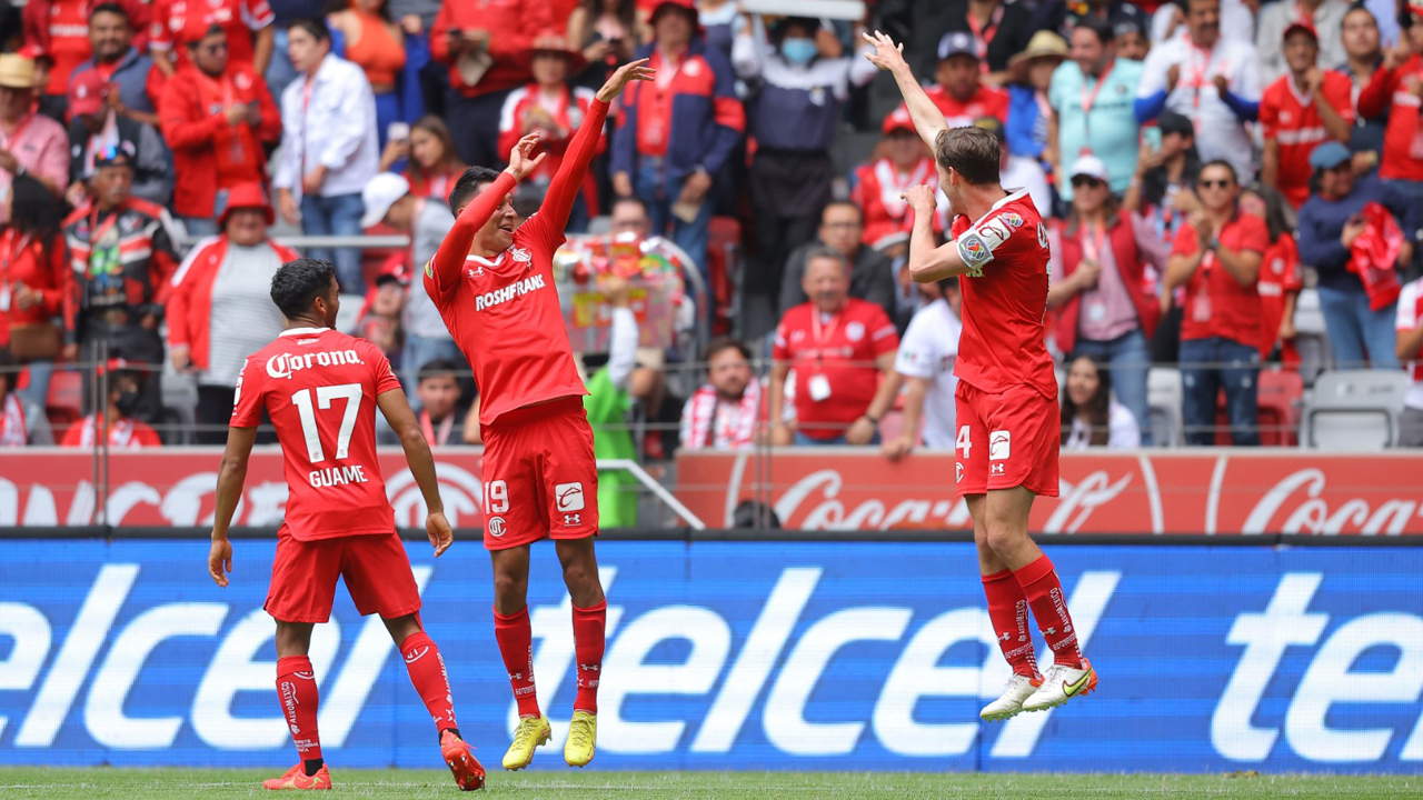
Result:
<svg viewBox="0 0 1423 800">
<path fill-rule="evenodd" d="M 638 48 L 635 58 L 652 56 L 652 46 Z M 746 108 L 736 97 L 731 64 L 700 38 L 692 40 L 686 63 L 672 80 L 672 120 L 667 130 L 667 185 L 704 168 L 716 175 L 746 130 Z M 655 83 L 633 83 L 622 95 L 622 114 L 612 135 L 612 172 L 638 174 L 638 112 L 643 93 L 657 91 Z"/>
</svg>

